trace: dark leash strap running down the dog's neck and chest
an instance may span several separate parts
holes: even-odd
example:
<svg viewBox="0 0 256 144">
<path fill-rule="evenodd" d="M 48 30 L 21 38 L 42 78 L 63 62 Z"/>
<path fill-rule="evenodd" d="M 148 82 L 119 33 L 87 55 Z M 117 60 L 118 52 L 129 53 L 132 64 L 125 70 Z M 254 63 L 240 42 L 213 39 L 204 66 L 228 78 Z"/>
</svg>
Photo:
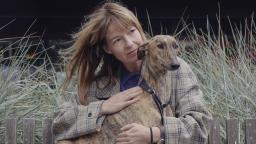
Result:
<svg viewBox="0 0 256 144">
<path fill-rule="evenodd" d="M 158 111 L 159 111 L 159 113 L 160 113 L 160 115 L 161 115 L 161 124 L 163 125 L 163 124 L 164 124 L 164 108 L 167 106 L 167 104 L 162 104 L 162 102 L 161 102 L 159 96 L 156 94 L 156 91 L 155 91 L 153 88 L 151 88 L 151 87 L 146 83 L 145 80 L 142 80 L 142 81 L 139 83 L 139 86 L 140 86 L 143 90 L 145 90 L 146 92 L 148 92 L 148 93 L 152 96 L 154 102 L 156 103 L 156 106 L 157 106 L 157 108 L 158 108 Z"/>
</svg>

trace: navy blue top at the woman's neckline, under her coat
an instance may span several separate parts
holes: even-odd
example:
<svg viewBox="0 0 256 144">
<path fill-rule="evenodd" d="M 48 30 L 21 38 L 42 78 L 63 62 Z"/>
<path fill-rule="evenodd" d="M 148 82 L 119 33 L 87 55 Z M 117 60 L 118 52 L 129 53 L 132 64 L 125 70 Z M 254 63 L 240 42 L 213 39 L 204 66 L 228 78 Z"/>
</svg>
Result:
<svg viewBox="0 0 256 144">
<path fill-rule="evenodd" d="M 129 72 L 126 68 L 122 68 L 120 74 L 120 91 L 135 87 L 138 85 L 140 78 L 139 72 Z"/>
</svg>

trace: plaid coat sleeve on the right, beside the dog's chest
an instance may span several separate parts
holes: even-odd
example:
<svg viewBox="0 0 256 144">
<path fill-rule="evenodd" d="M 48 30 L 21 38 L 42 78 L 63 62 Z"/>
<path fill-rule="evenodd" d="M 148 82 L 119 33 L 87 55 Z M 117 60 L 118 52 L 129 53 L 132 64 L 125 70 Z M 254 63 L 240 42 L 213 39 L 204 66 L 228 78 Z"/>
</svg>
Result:
<svg viewBox="0 0 256 144">
<path fill-rule="evenodd" d="M 189 65 L 179 58 L 180 68 L 171 74 L 175 117 L 165 117 L 166 144 L 207 143 L 208 120 L 212 118 L 204 104 L 202 92 Z"/>
</svg>

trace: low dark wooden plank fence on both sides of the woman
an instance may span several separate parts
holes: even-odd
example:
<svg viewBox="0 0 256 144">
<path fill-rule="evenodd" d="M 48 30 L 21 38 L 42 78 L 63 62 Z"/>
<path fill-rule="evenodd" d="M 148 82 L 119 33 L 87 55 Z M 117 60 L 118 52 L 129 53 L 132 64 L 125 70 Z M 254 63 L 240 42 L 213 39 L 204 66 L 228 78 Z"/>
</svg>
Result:
<svg viewBox="0 0 256 144">
<path fill-rule="evenodd" d="M 43 144 L 53 144 L 54 137 L 51 131 L 52 119 L 44 119 Z M 220 144 L 220 120 L 214 119 L 210 122 L 209 144 Z M 245 144 L 256 144 L 256 119 L 246 119 Z M 5 143 L 16 144 L 16 119 L 6 120 Z M 35 119 L 23 119 L 23 143 L 34 144 Z M 2 140 L 1 140 L 2 141 Z M 239 144 L 239 121 L 237 119 L 226 120 L 226 143 Z"/>
</svg>

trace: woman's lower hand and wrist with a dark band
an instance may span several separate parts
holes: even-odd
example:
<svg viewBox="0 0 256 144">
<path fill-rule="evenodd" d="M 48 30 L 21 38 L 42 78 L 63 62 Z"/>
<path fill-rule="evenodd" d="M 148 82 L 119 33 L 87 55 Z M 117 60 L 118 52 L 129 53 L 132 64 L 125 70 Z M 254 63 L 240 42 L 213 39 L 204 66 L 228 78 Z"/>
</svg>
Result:
<svg viewBox="0 0 256 144">
<path fill-rule="evenodd" d="M 152 127 L 153 142 L 160 140 L 160 129 Z M 117 136 L 117 144 L 148 144 L 151 143 L 149 127 L 132 123 L 121 128 L 121 133 Z"/>
</svg>

